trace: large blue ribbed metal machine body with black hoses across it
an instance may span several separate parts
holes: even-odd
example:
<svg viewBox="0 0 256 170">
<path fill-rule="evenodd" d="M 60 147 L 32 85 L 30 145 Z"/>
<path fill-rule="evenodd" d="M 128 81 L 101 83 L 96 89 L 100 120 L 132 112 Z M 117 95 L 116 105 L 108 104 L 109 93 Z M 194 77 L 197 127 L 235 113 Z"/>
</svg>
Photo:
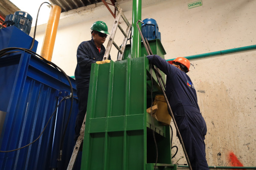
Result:
<svg viewBox="0 0 256 170">
<path fill-rule="evenodd" d="M 7 47 L 28 48 L 32 37 L 15 26 L 0 29 L 0 50 Z M 36 44 L 37 45 L 37 44 Z M 25 51 L 0 57 L 0 150 L 14 150 L 33 142 L 41 134 L 56 106 L 70 94 L 70 85 L 58 69 Z M 35 48 L 36 51 L 36 48 Z M 73 94 L 75 80 L 70 78 Z M 78 99 L 64 138 L 62 159 L 59 147 L 69 118 L 71 99 L 60 103 L 42 136 L 23 149 L 0 153 L 0 170 L 66 170 L 75 145 Z M 81 154 L 81 153 L 80 153 Z M 80 169 L 81 155 L 75 169 Z"/>
</svg>

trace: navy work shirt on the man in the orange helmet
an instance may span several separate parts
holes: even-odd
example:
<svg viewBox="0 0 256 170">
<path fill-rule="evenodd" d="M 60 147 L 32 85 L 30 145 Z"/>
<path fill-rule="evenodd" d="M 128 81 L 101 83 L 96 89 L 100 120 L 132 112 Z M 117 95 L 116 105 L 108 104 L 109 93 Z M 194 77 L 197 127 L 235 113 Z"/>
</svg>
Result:
<svg viewBox="0 0 256 170">
<path fill-rule="evenodd" d="M 166 96 L 172 111 L 175 112 L 179 108 L 177 112 L 183 112 L 184 108 L 192 106 L 200 113 L 196 91 L 189 76 L 158 55 L 147 57 L 152 64 L 166 74 Z M 180 108 L 180 106 L 183 107 Z"/>
</svg>

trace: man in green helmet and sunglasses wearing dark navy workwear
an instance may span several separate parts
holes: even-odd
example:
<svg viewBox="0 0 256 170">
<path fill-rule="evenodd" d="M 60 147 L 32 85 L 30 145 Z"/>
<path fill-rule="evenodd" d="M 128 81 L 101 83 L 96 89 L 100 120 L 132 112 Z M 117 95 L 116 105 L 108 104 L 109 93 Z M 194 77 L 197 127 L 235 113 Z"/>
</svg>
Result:
<svg viewBox="0 0 256 170">
<path fill-rule="evenodd" d="M 106 59 L 102 61 L 105 54 L 105 47 L 103 43 L 108 36 L 107 34 L 109 33 L 106 23 L 96 21 L 91 26 L 92 39 L 90 41 L 81 42 L 77 48 L 75 78 L 79 111 L 76 116 L 75 140 L 77 140 L 80 135 L 81 126 L 87 110 L 91 64 L 95 62 L 97 64 L 109 63 L 111 59 L 109 56 L 109 60 Z"/>
</svg>

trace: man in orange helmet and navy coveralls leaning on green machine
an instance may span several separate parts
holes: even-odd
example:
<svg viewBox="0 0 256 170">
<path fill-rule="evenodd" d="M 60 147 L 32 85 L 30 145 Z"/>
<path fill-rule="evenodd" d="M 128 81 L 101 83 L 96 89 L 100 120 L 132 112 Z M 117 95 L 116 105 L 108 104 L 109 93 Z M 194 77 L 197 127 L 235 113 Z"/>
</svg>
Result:
<svg viewBox="0 0 256 170">
<path fill-rule="evenodd" d="M 148 60 L 166 74 L 166 96 L 172 108 L 193 170 L 209 170 L 205 158 L 206 123 L 200 113 L 194 85 L 186 74 L 190 62 L 178 57 L 167 62 L 157 55 Z"/>
</svg>

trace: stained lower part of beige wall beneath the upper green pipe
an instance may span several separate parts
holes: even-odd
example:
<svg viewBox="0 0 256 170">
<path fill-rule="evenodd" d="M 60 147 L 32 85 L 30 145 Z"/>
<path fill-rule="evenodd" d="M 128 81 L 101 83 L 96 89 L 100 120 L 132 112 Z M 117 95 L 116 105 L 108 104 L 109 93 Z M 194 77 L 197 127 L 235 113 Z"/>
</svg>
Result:
<svg viewBox="0 0 256 170">
<path fill-rule="evenodd" d="M 247 51 L 191 61 L 189 76 L 207 124 L 205 143 L 209 166 L 238 162 L 230 161 L 233 153 L 244 166 L 256 165 L 255 57 L 256 51 Z M 173 161 L 182 158 L 178 163 L 183 164 L 186 161 L 177 138 L 174 143 L 179 153 Z"/>
</svg>

